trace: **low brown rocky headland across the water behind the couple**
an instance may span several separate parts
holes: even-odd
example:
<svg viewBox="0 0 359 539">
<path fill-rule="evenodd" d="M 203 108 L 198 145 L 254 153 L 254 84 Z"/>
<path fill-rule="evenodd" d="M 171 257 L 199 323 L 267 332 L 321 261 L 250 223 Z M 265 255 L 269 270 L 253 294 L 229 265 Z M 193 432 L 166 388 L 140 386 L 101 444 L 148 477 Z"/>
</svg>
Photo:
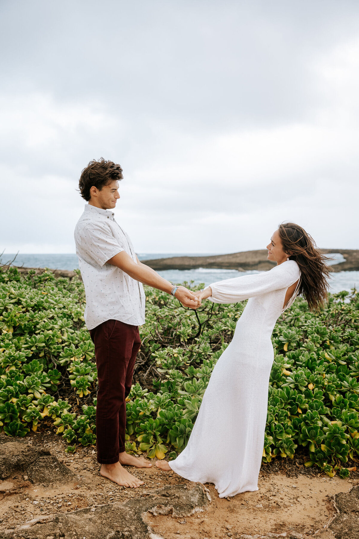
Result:
<svg viewBox="0 0 359 539">
<path fill-rule="evenodd" d="M 322 249 L 323 253 L 340 253 L 346 259 L 345 262 L 331 266 L 333 272 L 359 271 L 359 250 L 350 249 Z M 158 258 L 156 260 L 142 260 L 153 269 L 194 269 L 194 268 L 221 268 L 238 269 L 248 271 L 258 269 L 265 271 L 275 266 L 274 262 L 267 260 L 268 251 L 243 251 L 232 254 L 219 254 L 212 257 L 173 257 Z M 329 254 L 330 256 L 330 254 Z"/>
</svg>

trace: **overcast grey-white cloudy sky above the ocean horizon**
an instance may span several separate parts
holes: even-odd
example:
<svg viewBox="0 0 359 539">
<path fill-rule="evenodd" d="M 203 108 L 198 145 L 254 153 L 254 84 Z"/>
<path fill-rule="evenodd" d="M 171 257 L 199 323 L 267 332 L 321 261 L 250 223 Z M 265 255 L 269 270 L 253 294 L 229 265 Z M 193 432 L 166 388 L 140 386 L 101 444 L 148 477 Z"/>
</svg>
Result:
<svg viewBox="0 0 359 539">
<path fill-rule="evenodd" d="M 81 170 L 123 168 L 138 253 L 359 248 L 359 2 L 0 3 L 0 252 L 75 252 Z"/>
</svg>

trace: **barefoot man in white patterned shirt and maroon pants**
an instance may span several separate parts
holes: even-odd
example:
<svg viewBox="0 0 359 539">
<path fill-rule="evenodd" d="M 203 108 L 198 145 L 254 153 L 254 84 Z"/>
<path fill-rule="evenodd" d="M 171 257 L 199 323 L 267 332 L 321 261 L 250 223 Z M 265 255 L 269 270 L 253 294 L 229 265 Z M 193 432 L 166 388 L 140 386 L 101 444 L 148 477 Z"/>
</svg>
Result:
<svg viewBox="0 0 359 539">
<path fill-rule="evenodd" d="M 88 204 L 74 237 L 85 285 L 85 322 L 95 344 L 97 461 L 102 465 L 101 475 L 118 485 L 136 488 L 144 482 L 122 465 L 152 466 L 125 452 L 125 399 L 141 344 L 138 326 L 145 322 L 141 283 L 172 293 L 185 307 L 196 308 L 198 303 L 187 288 L 174 287 L 138 260 L 129 236 L 111 211 L 119 199 L 122 178 L 120 165 L 103 158 L 82 170 L 79 188 Z"/>
</svg>

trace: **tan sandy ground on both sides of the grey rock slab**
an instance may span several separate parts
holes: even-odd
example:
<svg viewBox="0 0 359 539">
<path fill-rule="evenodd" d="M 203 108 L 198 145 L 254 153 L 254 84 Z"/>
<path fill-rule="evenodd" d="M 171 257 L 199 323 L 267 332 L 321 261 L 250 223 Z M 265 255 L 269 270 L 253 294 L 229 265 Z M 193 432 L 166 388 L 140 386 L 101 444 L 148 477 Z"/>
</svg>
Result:
<svg viewBox="0 0 359 539">
<path fill-rule="evenodd" d="M 27 440 L 50 449 L 78 480 L 52 488 L 33 485 L 24 474 L 0 481 L 0 530 L 15 528 L 39 515 L 121 502 L 140 496 L 143 490 L 149 492 L 164 485 L 193 485 L 173 472 L 160 471 L 153 465 L 147 469 L 131 468 L 145 485 L 126 489 L 101 477 L 92 447 L 81 447 L 73 455 L 65 453 L 66 444 L 53 435 Z M 296 477 L 261 473 L 257 492 L 238 494 L 229 500 L 220 499 L 214 486 L 206 485 L 212 497 L 206 512 L 186 519 L 147 515 L 147 522 L 165 539 L 235 538 L 241 534 L 260 537 L 289 530 L 308 536 L 316 534 L 321 539 L 333 538 L 330 531 L 323 530 L 335 512 L 332 496 L 359 485 L 359 479 L 343 480 L 337 476 L 330 479 L 325 475 L 308 475 L 305 470 L 303 474 L 300 469 L 298 472 Z"/>
</svg>

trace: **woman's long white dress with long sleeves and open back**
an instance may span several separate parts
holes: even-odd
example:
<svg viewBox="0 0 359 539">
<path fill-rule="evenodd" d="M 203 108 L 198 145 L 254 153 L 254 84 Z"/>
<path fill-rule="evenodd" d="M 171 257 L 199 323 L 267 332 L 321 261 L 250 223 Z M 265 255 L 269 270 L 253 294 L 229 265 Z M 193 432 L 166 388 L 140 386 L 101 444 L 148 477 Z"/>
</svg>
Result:
<svg viewBox="0 0 359 539">
<path fill-rule="evenodd" d="M 190 481 L 214 483 L 220 497 L 258 490 L 269 376 L 273 363 L 271 334 L 287 288 L 298 281 L 297 262 L 287 260 L 270 271 L 210 285 L 215 303 L 248 299 L 233 340 L 217 361 L 185 449 L 168 462 Z"/>
</svg>

